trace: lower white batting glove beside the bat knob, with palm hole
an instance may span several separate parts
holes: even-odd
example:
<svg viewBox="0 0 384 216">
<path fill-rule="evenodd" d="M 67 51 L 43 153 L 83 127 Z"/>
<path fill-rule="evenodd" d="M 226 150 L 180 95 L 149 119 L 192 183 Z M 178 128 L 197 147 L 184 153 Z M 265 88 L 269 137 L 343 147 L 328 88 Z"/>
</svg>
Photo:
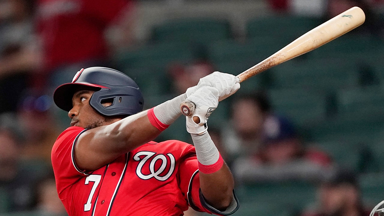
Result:
<svg viewBox="0 0 384 216">
<path fill-rule="evenodd" d="M 192 116 L 186 117 L 186 128 L 188 133 L 202 135 L 207 132 L 207 120 L 210 114 L 217 108 L 218 91 L 211 86 L 202 86 L 197 89 L 186 100 L 196 105 L 195 112 Z M 198 120 L 199 123 L 195 123 Z"/>
</svg>

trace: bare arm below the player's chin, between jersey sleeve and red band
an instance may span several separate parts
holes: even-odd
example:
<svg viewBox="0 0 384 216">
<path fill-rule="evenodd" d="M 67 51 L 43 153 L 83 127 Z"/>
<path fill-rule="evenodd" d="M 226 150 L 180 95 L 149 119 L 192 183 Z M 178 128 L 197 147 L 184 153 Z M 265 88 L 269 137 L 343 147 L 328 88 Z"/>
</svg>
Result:
<svg viewBox="0 0 384 216">
<path fill-rule="evenodd" d="M 149 121 L 147 111 L 87 130 L 75 143 L 76 164 L 87 171 L 96 170 L 151 141 L 160 132 Z"/>
</svg>

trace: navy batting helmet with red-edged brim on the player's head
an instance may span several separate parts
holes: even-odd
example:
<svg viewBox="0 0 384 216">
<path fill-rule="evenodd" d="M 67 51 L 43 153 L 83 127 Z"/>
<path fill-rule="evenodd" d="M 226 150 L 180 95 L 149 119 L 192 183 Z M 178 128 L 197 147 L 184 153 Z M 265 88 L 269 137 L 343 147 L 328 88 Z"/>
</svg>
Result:
<svg viewBox="0 0 384 216">
<path fill-rule="evenodd" d="M 89 105 L 102 115 L 133 115 L 143 109 L 143 96 L 135 81 L 120 71 L 104 67 L 81 69 L 71 83 L 56 88 L 53 101 L 60 109 L 70 111 L 74 93 L 84 86 L 95 90 Z M 104 107 L 102 103 L 106 101 L 112 105 Z"/>
</svg>

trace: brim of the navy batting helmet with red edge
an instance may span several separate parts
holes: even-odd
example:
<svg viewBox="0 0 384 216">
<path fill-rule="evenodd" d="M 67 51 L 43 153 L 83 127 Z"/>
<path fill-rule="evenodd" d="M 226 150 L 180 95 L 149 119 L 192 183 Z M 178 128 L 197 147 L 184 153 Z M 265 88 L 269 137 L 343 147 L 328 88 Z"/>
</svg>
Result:
<svg viewBox="0 0 384 216">
<path fill-rule="evenodd" d="M 92 90 L 99 91 L 101 88 L 108 88 L 101 85 L 95 85 L 92 83 L 65 83 L 56 88 L 53 93 L 53 101 L 58 108 L 69 112 L 72 105 L 72 98 L 74 93 L 79 90 Z"/>
</svg>

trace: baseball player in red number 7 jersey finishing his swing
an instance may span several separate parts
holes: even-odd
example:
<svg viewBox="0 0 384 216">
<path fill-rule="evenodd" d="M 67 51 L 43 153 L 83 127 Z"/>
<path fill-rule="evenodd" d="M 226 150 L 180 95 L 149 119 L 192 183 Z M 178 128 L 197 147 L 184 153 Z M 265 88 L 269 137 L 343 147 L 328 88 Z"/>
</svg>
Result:
<svg viewBox="0 0 384 216">
<path fill-rule="evenodd" d="M 237 77 L 214 72 L 197 86 L 150 110 L 136 83 L 111 68 L 81 69 L 59 86 L 56 105 L 71 126 L 56 140 L 52 165 L 56 187 L 70 216 L 179 216 L 196 211 L 229 215 L 238 208 L 233 176 L 207 133 L 218 101 L 240 88 Z M 194 146 L 151 141 L 195 103 L 187 117 Z"/>
</svg>

